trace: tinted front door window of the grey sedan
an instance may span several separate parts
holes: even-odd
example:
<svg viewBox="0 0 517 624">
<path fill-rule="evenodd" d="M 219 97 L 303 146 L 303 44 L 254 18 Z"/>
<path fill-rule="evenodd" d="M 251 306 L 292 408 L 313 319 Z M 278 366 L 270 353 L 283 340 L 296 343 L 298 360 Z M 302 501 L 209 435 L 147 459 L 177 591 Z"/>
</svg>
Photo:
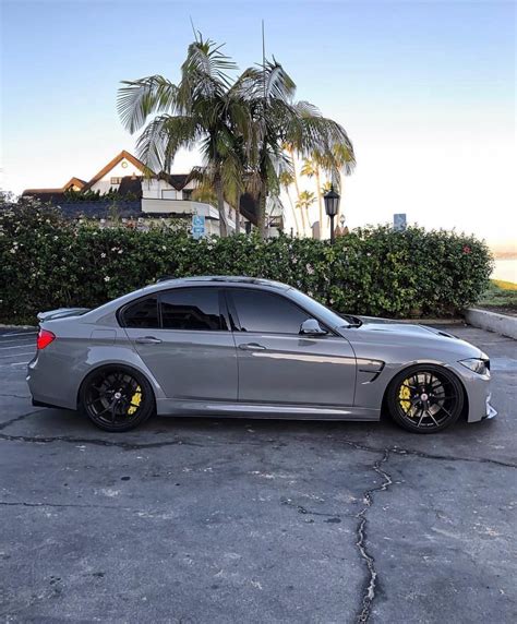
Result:
<svg viewBox="0 0 517 624">
<path fill-rule="evenodd" d="M 243 332 L 299 334 L 300 325 L 311 316 L 285 297 L 260 290 L 231 289 Z"/>
</svg>

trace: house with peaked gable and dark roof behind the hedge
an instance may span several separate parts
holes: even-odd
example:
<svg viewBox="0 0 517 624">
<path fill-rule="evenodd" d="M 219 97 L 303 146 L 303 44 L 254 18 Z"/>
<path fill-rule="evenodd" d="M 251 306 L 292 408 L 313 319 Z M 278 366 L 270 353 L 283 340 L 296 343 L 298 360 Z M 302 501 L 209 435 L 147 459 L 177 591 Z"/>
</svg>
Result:
<svg viewBox="0 0 517 624">
<path fill-rule="evenodd" d="M 59 205 L 65 216 L 107 218 L 113 193 L 121 217 L 191 218 L 205 217 L 206 232 L 219 233 L 219 213 L 213 205 L 192 200 L 196 181 L 190 173 L 155 173 L 129 152 L 122 151 L 88 181 L 71 178 L 60 189 L 26 189 L 23 197 L 37 197 Z M 104 195 L 110 193 L 110 196 Z M 80 200 L 80 201 L 79 201 Z M 240 202 L 241 227 L 256 226 L 257 200 L 247 193 Z M 237 212 L 225 202 L 229 229 L 235 230 Z M 279 224 L 275 223 L 278 227 Z"/>
</svg>

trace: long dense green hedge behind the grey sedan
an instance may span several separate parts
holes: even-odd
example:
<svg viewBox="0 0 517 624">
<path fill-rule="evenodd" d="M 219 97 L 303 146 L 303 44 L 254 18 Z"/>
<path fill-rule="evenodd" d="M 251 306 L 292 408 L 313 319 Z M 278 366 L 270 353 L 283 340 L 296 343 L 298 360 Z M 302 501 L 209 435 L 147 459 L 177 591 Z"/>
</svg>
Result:
<svg viewBox="0 0 517 624">
<path fill-rule="evenodd" d="M 465 235 L 361 228 L 328 242 L 280 237 L 193 240 L 156 228 L 75 225 L 37 203 L 0 211 L 1 322 L 41 310 L 94 307 L 163 275 L 250 275 L 290 284 L 338 311 L 448 315 L 474 303 L 492 271 L 488 247 Z"/>
</svg>

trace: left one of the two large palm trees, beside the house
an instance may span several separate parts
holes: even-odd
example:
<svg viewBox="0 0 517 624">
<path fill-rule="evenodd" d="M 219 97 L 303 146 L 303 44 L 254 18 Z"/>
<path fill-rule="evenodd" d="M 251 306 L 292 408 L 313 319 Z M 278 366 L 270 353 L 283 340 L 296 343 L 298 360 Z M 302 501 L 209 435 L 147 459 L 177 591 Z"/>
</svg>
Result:
<svg viewBox="0 0 517 624">
<path fill-rule="evenodd" d="M 239 184 L 236 137 L 248 144 L 251 117 L 239 92 L 231 89 L 228 72 L 236 64 L 220 48 L 200 35 L 189 46 L 178 85 L 160 75 L 124 81 L 118 110 L 131 133 L 146 124 L 136 148 L 151 170 L 170 171 L 180 148 L 200 146 L 204 176 L 217 196 L 220 235 L 227 236 L 225 183 Z"/>
</svg>

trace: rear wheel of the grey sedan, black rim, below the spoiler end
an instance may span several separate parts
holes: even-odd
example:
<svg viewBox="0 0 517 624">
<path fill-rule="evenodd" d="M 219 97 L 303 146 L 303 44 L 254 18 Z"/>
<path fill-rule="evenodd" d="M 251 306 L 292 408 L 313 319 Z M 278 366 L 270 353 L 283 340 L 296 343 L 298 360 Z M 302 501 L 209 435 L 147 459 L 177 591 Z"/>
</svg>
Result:
<svg viewBox="0 0 517 624">
<path fill-rule="evenodd" d="M 130 367 L 113 364 L 96 369 L 81 385 L 79 410 L 99 429 L 130 431 L 155 412 L 149 382 Z"/>
</svg>

